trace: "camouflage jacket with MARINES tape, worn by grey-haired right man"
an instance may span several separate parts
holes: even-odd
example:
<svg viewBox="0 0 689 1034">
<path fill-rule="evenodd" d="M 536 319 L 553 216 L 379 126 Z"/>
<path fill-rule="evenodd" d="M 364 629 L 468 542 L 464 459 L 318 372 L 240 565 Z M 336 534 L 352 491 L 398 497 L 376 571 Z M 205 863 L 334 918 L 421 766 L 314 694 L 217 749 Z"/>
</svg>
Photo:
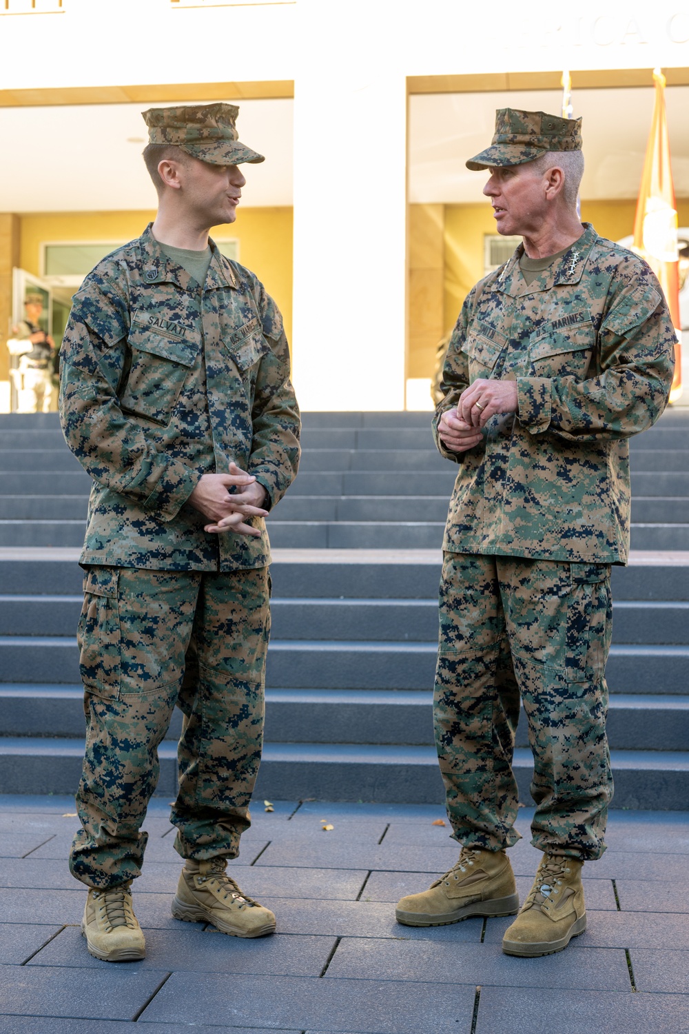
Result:
<svg viewBox="0 0 689 1034">
<path fill-rule="evenodd" d="M 440 453 L 460 464 L 447 551 L 627 560 L 627 439 L 665 407 L 677 335 L 648 265 L 585 225 L 530 285 L 520 245 L 464 303 L 434 419 Z M 482 443 L 450 452 L 438 420 L 478 377 L 515 378 L 518 416 L 491 418 Z"/>
</svg>

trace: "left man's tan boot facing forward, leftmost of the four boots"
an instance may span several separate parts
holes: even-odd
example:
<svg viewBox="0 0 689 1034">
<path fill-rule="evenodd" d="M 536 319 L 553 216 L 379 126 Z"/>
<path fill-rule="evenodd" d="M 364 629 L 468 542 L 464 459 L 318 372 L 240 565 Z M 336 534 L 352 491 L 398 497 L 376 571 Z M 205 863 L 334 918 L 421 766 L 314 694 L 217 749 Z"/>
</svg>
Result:
<svg viewBox="0 0 689 1034">
<path fill-rule="evenodd" d="M 106 963 L 131 963 L 146 957 L 146 941 L 131 907 L 131 884 L 106 890 L 89 889 L 82 919 L 89 953 Z"/>
</svg>

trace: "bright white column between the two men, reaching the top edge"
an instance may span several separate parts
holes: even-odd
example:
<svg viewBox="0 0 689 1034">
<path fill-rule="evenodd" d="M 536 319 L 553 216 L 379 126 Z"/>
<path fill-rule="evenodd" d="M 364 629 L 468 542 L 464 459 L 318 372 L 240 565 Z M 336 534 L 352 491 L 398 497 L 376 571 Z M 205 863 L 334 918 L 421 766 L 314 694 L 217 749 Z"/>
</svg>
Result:
<svg viewBox="0 0 689 1034">
<path fill-rule="evenodd" d="M 404 408 L 406 82 L 380 52 L 373 6 L 300 2 L 292 359 L 304 409 Z"/>
</svg>

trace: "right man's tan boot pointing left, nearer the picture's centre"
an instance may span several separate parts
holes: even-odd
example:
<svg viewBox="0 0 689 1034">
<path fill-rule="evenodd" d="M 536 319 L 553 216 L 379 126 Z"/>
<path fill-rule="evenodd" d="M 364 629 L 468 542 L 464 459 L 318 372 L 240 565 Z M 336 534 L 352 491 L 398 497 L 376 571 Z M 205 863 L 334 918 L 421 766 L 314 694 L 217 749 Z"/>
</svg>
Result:
<svg viewBox="0 0 689 1034">
<path fill-rule="evenodd" d="M 420 894 L 398 902 L 405 926 L 444 926 L 471 915 L 514 915 L 520 899 L 504 851 L 463 847 L 459 861 Z"/>
</svg>

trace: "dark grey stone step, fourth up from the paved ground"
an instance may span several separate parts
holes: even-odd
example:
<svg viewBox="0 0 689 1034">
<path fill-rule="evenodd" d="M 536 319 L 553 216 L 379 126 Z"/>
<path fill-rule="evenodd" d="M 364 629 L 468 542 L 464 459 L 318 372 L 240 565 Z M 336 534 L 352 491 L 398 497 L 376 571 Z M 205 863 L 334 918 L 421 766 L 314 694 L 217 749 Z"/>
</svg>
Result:
<svg viewBox="0 0 689 1034">
<path fill-rule="evenodd" d="M 0 630 L 5 636 L 73 636 L 83 596 L 1 595 Z M 275 639 L 435 642 L 436 599 L 304 598 L 274 596 Z M 689 641 L 689 603 L 618 600 L 613 642 L 682 645 Z M 1 727 L 0 727 L 1 728 Z"/>
</svg>

